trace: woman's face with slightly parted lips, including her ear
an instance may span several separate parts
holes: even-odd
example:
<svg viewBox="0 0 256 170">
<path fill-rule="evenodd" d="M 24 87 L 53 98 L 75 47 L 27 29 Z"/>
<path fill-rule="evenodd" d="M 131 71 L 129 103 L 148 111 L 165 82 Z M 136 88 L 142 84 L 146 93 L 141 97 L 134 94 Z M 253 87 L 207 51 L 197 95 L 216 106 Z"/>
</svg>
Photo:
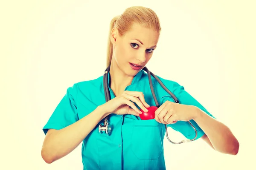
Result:
<svg viewBox="0 0 256 170">
<path fill-rule="evenodd" d="M 111 33 L 112 62 L 126 75 L 136 75 L 151 59 L 159 38 L 157 31 L 134 24 L 120 37 L 116 29 Z M 135 64 L 135 65 L 133 65 Z"/>
</svg>

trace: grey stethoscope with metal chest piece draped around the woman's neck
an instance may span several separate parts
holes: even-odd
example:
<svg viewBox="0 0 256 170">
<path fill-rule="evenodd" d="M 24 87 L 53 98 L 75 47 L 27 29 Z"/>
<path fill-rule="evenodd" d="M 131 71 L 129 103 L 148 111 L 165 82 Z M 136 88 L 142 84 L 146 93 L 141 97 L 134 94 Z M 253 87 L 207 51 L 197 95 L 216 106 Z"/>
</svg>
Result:
<svg viewBox="0 0 256 170">
<path fill-rule="evenodd" d="M 108 102 L 111 99 L 110 91 L 108 89 L 108 72 L 109 72 L 109 70 L 110 70 L 110 66 L 108 68 L 106 68 L 106 70 L 104 72 L 104 75 L 103 75 L 103 81 L 104 81 L 103 84 L 104 84 L 104 92 L 105 92 L 105 100 L 106 100 L 106 102 Z M 179 102 L 178 99 L 176 98 L 176 96 L 174 94 L 172 94 L 172 92 L 169 91 L 168 88 L 166 88 L 166 86 L 163 84 L 163 82 L 156 75 L 154 75 L 146 67 L 144 67 L 143 70 L 148 73 L 148 80 L 149 80 L 149 85 L 150 85 L 151 93 L 152 93 L 152 96 L 154 98 L 154 102 L 155 102 L 157 108 L 159 108 L 160 105 L 158 104 L 156 95 L 154 93 L 154 88 L 153 88 L 153 85 L 152 85 L 151 75 L 157 80 L 157 82 L 163 87 L 163 89 L 172 96 L 172 98 L 175 100 L 176 103 Z M 192 126 L 192 128 L 195 130 L 195 138 L 194 139 L 184 139 L 181 142 L 172 142 L 169 139 L 169 136 L 168 136 L 167 125 L 165 125 L 166 137 L 169 140 L 169 142 L 171 142 L 172 144 L 181 144 L 181 143 L 185 143 L 185 142 L 191 142 L 191 141 L 196 139 L 197 131 L 196 131 L 195 127 L 192 125 L 192 123 L 190 121 L 188 121 L 188 122 Z M 109 136 L 109 135 L 111 135 L 111 131 L 112 131 L 112 127 L 111 127 L 111 124 L 108 122 L 108 116 L 106 116 L 105 119 L 104 119 L 103 125 L 102 124 L 99 125 L 99 133 L 106 133 Z"/>
</svg>

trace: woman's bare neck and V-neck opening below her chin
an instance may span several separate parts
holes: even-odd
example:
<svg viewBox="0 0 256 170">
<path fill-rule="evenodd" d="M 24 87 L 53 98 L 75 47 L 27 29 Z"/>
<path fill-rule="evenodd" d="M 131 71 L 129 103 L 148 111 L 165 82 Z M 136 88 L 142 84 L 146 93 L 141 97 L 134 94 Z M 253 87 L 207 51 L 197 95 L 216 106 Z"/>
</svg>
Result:
<svg viewBox="0 0 256 170">
<path fill-rule="evenodd" d="M 111 75 L 111 85 L 115 96 L 119 96 L 125 91 L 125 88 L 128 85 L 131 85 L 131 82 L 134 77 L 126 75 L 115 62 L 111 63 L 109 74 Z"/>
</svg>

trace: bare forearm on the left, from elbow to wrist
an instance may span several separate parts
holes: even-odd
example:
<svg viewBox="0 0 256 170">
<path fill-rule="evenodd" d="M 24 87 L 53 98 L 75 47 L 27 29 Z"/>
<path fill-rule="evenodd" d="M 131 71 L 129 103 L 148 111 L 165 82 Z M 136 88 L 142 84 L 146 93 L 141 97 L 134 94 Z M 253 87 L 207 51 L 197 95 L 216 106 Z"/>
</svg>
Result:
<svg viewBox="0 0 256 170">
<path fill-rule="evenodd" d="M 52 163 L 73 151 L 107 113 L 98 107 L 93 112 L 61 130 L 54 130 L 44 140 L 42 157 Z"/>
</svg>

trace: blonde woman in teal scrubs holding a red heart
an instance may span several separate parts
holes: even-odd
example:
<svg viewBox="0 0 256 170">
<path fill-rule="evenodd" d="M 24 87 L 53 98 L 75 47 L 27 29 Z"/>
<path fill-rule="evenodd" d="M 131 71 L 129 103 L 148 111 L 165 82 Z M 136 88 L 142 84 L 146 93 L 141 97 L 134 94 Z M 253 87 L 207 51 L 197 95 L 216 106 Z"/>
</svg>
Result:
<svg viewBox="0 0 256 170">
<path fill-rule="evenodd" d="M 41 155 L 52 163 L 82 143 L 84 169 L 165 169 L 164 126 L 187 139 L 203 139 L 221 153 L 236 155 L 239 142 L 227 126 L 218 122 L 177 82 L 158 77 L 177 97 L 172 97 L 152 78 L 160 107 L 155 119 L 140 119 L 142 109 L 154 106 L 148 76 L 142 69 L 151 59 L 160 36 L 160 22 L 149 8 L 134 6 L 111 20 L 108 42 L 108 88 L 105 102 L 103 76 L 74 84 L 58 104 L 43 130 Z M 111 135 L 99 133 L 108 116 Z"/>
</svg>

